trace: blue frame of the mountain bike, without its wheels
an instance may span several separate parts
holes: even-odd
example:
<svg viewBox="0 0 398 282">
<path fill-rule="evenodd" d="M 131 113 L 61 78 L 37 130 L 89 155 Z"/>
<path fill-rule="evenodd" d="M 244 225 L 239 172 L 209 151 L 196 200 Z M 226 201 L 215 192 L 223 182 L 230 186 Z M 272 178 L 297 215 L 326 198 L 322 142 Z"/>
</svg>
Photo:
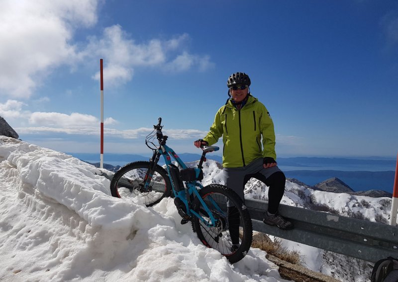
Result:
<svg viewBox="0 0 398 282">
<path fill-rule="evenodd" d="M 147 175 L 145 176 L 145 184 L 144 184 L 144 190 L 148 189 L 149 187 L 149 183 L 151 181 L 152 178 L 152 174 L 153 171 L 155 171 L 155 167 L 159 161 L 160 155 L 163 156 L 165 163 L 166 163 L 166 169 L 168 172 L 168 176 L 170 179 L 170 182 L 172 184 L 172 189 L 173 189 L 173 193 L 174 196 L 176 198 L 179 198 L 186 206 L 186 213 L 188 216 L 196 216 L 198 217 L 204 224 L 206 224 L 207 227 L 214 227 L 217 225 L 217 220 L 216 218 L 214 218 L 213 213 L 209 210 L 209 208 L 207 207 L 206 203 L 204 203 L 203 199 L 200 197 L 199 192 L 197 187 L 199 187 L 200 189 L 203 188 L 202 184 L 199 181 L 187 181 L 185 184 L 185 187 L 183 190 L 181 191 L 177 191 L 174 187 L 175 183 L 173 182 L 172 179 L 172 174 L 169 168 L 169 165 L 172 164 L 172 160 L 171 157 L 173 157 L 177 163 L 182 167 L 182 168 L 187 168 L 186 164 L 180 159 L 180 157 L 175 153 L 175 151 L 170 148 L 169 146 L 167 146 L 165 144 L 165 142 L 161 143 L 160 146 L 154 151 L 154 154 L 151 158 L 151 162 L 153 162 L 152 164 L 152 169 L 151 171 L 148 170 Z M 201 163 L 199 165 L 199 167 L 201 166 Z M 199 170 L 200 168 L 195 168 L 195 170 Z M 190 201 L 190 196 L 194 195 L 194 197 L 198 197 L 200 204 L 202 205 L 204 211 L 206 211 L 206 213 L 209 215 L 210 217 L 210 221 L 205 220 L 198 212 L 194 211 L 191 209 L 191 201 Z M 217 211 L 224 215 L 224 212 L 221 210 L 221 208 L 211 199 L 211 197 L 209 197 L 210 201 L 212 202 L 212 204 L 214 205 L 214 207 L 217 209 Z"/>
</svg>

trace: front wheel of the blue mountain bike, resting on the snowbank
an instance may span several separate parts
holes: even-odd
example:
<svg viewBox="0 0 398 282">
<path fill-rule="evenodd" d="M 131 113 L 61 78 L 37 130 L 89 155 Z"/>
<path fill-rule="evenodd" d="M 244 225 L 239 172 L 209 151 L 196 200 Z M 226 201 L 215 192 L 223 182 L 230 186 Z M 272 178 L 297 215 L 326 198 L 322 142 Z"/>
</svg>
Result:
<svg viewBox="0 0 398 282">
<path fill-rule="evenodd" d="M 147 207 L 159 203 L 171 193 L 171 183 L 167 171 L 156 165 L 148 190 L 144 191 L 144 178 L 150 168 L 149 161 L 136 161 L 120 168 L 110 182 L 113 197 L 131 199 L 142 197 Z"/>
</svg>

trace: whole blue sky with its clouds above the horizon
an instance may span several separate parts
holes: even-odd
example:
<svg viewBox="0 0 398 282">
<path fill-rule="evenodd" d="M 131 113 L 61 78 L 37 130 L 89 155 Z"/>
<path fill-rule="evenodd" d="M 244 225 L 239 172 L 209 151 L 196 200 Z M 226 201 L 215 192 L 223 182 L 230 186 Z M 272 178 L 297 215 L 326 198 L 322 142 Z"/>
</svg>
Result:
<svg viewBox="0 0 398 282">
<path fill-rule="evenodd" d="M 197 152 L 244 71 L 268 108 L 279 156 L 398 151 L 398 3 L 346 1 L 3 0 L 0 116 L 24 141 L 148 153 Z"/>
</svg>

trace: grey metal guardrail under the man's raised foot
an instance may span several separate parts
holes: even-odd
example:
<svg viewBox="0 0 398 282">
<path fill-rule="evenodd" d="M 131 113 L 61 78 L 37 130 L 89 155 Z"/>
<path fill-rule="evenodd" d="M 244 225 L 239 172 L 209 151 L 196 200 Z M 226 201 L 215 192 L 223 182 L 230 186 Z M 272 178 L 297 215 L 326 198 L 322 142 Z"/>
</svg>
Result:
<svg viewBox="0 0 398 282">
<path fill-rule="evenodd" d="M 267 202 L 245 199 L 245 205 L 253 230 L 372 263 L 398 258 L 397 226 L 280 205 L 280 214 L 295 224 L 285 231 L 263 223 Z"/>
</svg>

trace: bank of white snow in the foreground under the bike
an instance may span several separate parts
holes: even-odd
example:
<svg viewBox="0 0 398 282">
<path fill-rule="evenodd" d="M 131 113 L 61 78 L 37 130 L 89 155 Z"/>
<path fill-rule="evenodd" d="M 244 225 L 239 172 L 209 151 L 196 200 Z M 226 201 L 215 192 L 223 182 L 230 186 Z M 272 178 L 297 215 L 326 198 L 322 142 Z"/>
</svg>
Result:
<svg viewBox="0 0 398 282">
<path fill-rule="evenodd" d="M 113 198 L 101 174 L 0 137 L 0 281 L 286 281 L 264 251 L 231 265 L 180 224 L 171 199 Z"/>
</svg>

